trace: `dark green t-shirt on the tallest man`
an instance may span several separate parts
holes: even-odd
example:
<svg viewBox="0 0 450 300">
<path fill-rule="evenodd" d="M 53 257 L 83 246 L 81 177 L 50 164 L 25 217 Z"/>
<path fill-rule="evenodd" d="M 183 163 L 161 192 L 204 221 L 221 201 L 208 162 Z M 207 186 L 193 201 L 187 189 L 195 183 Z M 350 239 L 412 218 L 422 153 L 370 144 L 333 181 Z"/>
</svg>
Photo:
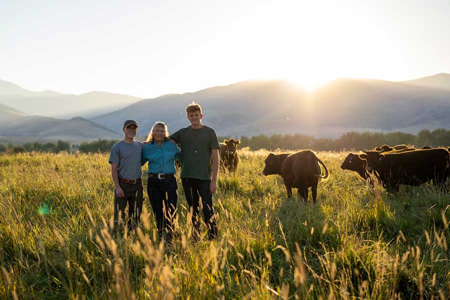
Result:
<svg viewBox="0 0 450 300">
<path fill-rule="evenodd" d="M 181 148 L 181 178 L 211 179 L 211 150 L 220 148 L 215 130 L 204 125 L 199 129 L 187 126 L 172 135 Z"/>
</svg>

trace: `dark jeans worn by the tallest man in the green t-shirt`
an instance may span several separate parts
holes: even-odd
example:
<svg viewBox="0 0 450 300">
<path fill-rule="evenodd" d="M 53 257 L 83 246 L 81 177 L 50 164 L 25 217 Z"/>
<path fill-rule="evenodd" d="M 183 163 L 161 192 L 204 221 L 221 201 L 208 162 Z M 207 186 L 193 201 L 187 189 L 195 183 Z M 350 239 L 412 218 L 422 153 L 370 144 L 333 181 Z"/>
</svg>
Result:
<svg viewBox="0 0 450 300">
<path fill-rule="evenodd" d="M 214 209 L 212 208 L 212 194 L 209 193 L 209 184 L 211 180 L 200 180 L 195 178 L 181 178 L 186 201 L 189 210 L 192 211 L 192 226 L 197 231 L 200 226 L 200 205 L 203 212 L 203 220 L 209 230 L 209 238 L 217 237 L 217 223 L 214 218 Z"/>
</svg>

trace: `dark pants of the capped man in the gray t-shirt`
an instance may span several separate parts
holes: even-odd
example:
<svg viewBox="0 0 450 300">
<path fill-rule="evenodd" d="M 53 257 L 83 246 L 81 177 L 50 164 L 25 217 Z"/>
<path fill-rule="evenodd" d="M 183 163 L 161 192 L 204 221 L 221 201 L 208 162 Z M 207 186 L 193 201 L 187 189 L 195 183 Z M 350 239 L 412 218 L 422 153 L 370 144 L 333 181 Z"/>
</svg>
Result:
<svg viewBox="0 0 450 300">
<path fill-rule="evenodd" d="M 125 207 L 128 204 L 128 229 L 135 229 L 140 221 L 143 202 L 142 183 L 123 183 L 119 182 L 123 189 L 124 197 L 119 198 L 114 189 L 114 227 L 117 225 L 119 211 L 122 222 L 125 221 Z"/>
</svg>

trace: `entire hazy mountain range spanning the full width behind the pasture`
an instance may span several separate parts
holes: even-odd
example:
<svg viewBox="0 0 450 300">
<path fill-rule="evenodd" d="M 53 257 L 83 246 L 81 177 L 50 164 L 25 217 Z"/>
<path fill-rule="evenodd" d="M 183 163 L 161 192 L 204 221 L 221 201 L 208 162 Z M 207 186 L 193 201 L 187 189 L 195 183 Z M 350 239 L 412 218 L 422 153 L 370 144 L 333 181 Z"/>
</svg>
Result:
<svg viewBox="0 0 450 300">
<path fill-rule="evenodd" d="M 61 96 L 49 90 L 37 92 L 38 96 L 36 92 L 4 82 L 0 81 L 0 103 L 5 95 L 15 94 L 22 99 L 33 99 L 36 105 L 41 104 L 39 109 L 44 109 L 50 105 L 44 98 L 76 96 Z M 97 95 L 91 92 L 76 97 L 89 98 L 87 102 L 92 104 L 97 101 Z M 106 93 L 104 99 L 98 97 L 98 102 L 104 105 L 108 99 L 112 103 L 117 98 Z M 221 136 L 303 133 L 337 137 L 351 130 L 416 133 L 424 128 L 450 128 L 450 74 L 446 73 L 401 82 L 341 78 L 313 92 L 288 81 L 248 80 L 196 92 L 129 100 L 132 102 L 127 106 L 107 113 L 89 108 L 90 112 L 85 114 L 89 120 L 30 116 L 28 114 L 40 113 L 30 105 L 26 110 L 20 109 L 19 103 L 23 103 L 20 101 L 3 102 L 0 104 L 0 136 L 118 138 L 122 135 L 123 121 L 128 118 L 137 120 L 139 134 L 146 134 L 158 120 L 164 121 L 172 132 L 189 124 L 184 109 L 191 101 L 200 103 L 203 123 L 215 128 Z M 73 102 L 72 111 L 93 107 L 75 103 L 80 102 Z"/>
</svg>

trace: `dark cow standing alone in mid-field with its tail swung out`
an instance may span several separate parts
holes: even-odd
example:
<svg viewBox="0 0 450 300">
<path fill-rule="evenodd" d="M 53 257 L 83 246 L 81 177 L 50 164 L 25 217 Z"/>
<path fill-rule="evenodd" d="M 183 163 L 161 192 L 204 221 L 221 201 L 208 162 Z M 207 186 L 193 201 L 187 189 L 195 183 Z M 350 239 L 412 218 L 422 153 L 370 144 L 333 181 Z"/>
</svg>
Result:
<svg viewBox="0 0 450 300">
<path fill-rule="evenodd" d="M 270 153 L 264 163 L 263 175 L 281 175 L 287 197 L 292 197 L 292 188 L 298 188 L 298 195 L 302 196 L 305 201 L 308 199 L 308 188 L 311 187 L 312 201 L 315 202 L 318 179 L 328 177 L 328 169 L 325 164 L 311 150 L 278 155 Z M 319 163 L 325 169 L 323 176 L 320 175 Z"/>
</svg>

